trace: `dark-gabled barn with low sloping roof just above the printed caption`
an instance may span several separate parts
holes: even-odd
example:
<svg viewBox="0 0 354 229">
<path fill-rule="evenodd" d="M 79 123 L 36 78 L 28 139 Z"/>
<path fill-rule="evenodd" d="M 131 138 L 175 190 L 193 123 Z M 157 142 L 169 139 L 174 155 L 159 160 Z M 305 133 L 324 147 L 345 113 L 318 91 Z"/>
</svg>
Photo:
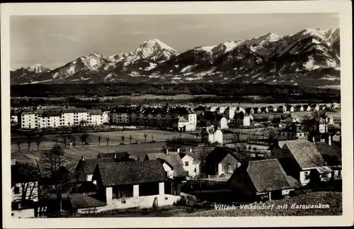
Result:
<svg viewBox="0 0 354 229">
<path fill-rule="evenodd" d="M 235 169 L 227 184 L 232 194 L 249 201 L 282 199 L 300 186 L 277 159 L 245 162 Z"/>
</svg>

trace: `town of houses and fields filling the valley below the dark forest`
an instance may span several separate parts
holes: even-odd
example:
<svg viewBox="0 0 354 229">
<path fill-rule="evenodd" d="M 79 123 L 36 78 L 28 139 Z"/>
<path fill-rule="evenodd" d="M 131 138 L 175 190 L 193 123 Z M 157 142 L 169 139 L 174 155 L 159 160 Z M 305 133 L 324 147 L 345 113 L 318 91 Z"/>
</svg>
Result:
<svg viewBox="0 0 354 229">
<path fill-rule="evenodd" d="M 11 158 L 13 218 L 338 194 L 341 104 L 88 109 L 67 99 L 11 109 Z"/>
</svg>

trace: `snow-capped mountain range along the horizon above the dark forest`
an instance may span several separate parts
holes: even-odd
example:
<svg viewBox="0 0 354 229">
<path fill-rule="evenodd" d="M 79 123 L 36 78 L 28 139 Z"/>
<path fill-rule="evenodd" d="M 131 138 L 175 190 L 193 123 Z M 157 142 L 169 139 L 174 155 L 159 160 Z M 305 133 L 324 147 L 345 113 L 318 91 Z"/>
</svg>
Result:
<svg viewBox="0 0 354 229">
<path fill-rule="evenodd" d="M 91 52 L 56 69 L 34 65 L 11 71 L 11 84 L 102 82 L 338 85 L 339 28 L 267 33 L 181 53 L 154 39 L 110 57 Z"/>
</svg>

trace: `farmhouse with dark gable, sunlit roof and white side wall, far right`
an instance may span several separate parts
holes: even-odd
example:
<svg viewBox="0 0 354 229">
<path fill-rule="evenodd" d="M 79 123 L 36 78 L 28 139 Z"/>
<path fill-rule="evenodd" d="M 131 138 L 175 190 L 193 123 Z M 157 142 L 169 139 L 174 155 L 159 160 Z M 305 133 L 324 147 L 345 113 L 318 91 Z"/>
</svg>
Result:
<svg viewBox="0 0 354 229">
<path fill-rule="evenodd" d="M 278 159 L 285 172 L 302 185 L 331 179 L 333 170 L 316 145 L 308 140 L 287 140 Z"/>
</svg>

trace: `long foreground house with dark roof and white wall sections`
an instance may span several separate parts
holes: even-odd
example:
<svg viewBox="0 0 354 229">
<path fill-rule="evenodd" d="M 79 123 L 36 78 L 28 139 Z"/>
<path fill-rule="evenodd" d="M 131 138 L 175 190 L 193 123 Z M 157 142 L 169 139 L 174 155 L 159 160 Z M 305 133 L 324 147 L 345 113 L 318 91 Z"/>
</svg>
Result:
<svg viewBox="0 0 354 229">
<path fill-rule="evenodd" d="M 171 184 L 160 160 L 98 163 L 92 179 L 98 198 L 107 204 L 100 211 L 173 205 L 180 198 L 165 193 Z"/>
</svg>

